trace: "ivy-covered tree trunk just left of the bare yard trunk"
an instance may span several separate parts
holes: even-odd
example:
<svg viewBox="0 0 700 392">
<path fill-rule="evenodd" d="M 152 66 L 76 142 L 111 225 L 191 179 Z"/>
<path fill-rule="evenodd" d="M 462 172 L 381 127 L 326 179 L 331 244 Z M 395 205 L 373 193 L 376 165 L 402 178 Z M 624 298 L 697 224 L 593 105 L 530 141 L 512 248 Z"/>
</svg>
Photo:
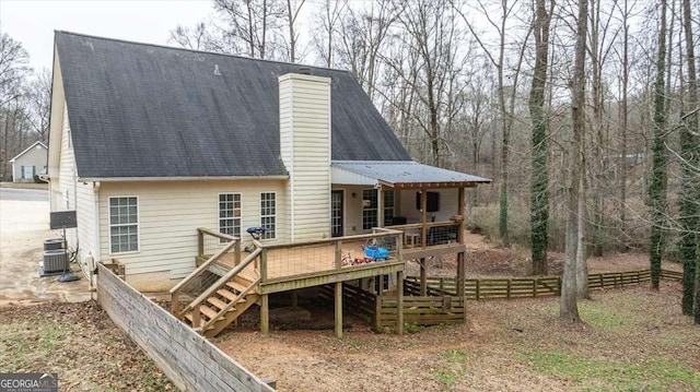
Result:
<svg viewBox="0 0 700 392">
<path fill-rule="evenodd" d="M 533 156 L 530 182 L 530 245 L 533 252 L 533 274 L 547 274 L 547 221 L 549 219 L 549 120 L 545 117 L 545 85 L 549 52 L 549 22 L 545 0 L 536 0 L 534 20 L 535 69 L 529 93 L 529 115 L 533 121 Z"/>
</svg>

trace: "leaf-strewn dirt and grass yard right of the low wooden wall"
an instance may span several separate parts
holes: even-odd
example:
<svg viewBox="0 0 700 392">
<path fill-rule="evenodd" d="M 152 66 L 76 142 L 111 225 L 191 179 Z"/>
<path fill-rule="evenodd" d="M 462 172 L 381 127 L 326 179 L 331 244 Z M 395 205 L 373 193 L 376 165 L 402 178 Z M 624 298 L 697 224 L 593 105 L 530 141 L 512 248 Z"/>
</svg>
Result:
<svg viewBox="0 0 700 392">
<path fill-rule="evenodd" d="M 527 274 L 517 249 L 491 249 L 475 235 L 468 243 L 468 276 Z M 550 254 L 552 274 L 561 273 L 562 258 Z M 456 271 L 451 259 L 428 266 L 431 276 Z M 588 263 L 591 272 L 646 268 L 644 254 Z M 646 285 L 594 292 L 580 305 L 584 323 L 571 325 L 557 318 L 558 298 L 470 301 L 467 324 L 415 326 L 405 336 L 373 333 L 346 313 L 338 340 L 331 308 L 301 297 L 313 324 L 273 322 L 262 336 L 253 310 L 215 343 L 256 375 L 277 379 L 280 391 L 700 391 L 700 329 L 679 304 L 680 285 L 670 282 L 660 293 Z"/>
</svg>

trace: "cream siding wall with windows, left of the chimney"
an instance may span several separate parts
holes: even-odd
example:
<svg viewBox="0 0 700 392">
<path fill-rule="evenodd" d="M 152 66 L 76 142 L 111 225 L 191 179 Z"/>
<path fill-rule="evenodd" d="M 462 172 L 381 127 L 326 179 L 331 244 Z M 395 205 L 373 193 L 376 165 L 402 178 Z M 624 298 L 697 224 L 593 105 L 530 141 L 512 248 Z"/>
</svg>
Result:
<svg viewBox="0 0 700 392">
<path fill-rule="evenodd" d="M 249 242 L 245 228 L 260 224 L 260 192 L 285 197 L 287 180 L 102 182 L 100 187 L 101 261 L 127 264 L 127 274 L 168 272 L 180 278 L 195 269 L 197 228 L 219 227 L 219 193 L 242 193 L 242 240 Z M 139 250 L 112 253 L 109 243 L 109 198 L 137 197 Z M 287 212 L 277 209 L 277 238 L 289 241 Z"/>
</svg>

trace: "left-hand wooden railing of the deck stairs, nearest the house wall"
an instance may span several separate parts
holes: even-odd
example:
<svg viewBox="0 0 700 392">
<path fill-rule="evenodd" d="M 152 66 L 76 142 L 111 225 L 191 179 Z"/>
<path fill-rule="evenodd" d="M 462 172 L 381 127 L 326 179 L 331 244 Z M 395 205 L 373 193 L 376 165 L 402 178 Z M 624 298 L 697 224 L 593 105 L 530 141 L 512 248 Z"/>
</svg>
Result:
<svg viewBox="0 0 700 392">
<path fill-rule="evenodd" d="M 198 297 L 219 278 L 209 272 L 212 264 L 223 258 L 233 258 L 236 264 L 241 260 L 241 240 L 236 237 L 200 227 L 197 228 L 197 254 L 209 254 L 207 260 L 170 290 L 171 312 L 177 318 L 184 314 L 184 310 L 179 309 L 183 302 L 180 299 L 190 300 Z"/>
</svg>

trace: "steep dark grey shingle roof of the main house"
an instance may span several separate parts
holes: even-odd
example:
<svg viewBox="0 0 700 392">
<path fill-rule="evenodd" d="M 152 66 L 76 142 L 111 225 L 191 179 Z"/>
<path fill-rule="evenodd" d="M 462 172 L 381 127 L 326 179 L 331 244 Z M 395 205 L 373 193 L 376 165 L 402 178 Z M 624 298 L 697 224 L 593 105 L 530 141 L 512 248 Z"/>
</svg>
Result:
<svg viewBox="0 0 700 392">
<path fill-rule="evenodd" d="M 277 78 L 299 64 L 66 32 L 56 47 L 80 177 L 287 174 Z M 410 159 L 350 73 L 311 73 L 331 79 L 332 159 Z"/>
</svg>

